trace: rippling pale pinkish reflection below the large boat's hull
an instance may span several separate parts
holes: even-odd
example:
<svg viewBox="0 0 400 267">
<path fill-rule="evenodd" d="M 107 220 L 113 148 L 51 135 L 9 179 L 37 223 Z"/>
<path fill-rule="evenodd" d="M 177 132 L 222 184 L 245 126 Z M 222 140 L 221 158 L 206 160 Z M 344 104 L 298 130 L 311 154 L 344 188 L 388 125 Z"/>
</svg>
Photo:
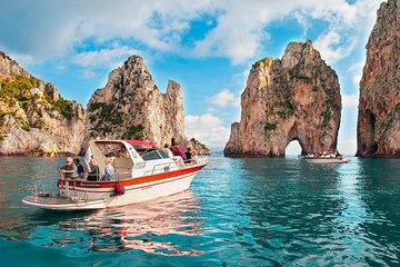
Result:
<svg viewBox="0 0 400 267">
<path fill-rule="evenodd" d="M 138 249 L 164 256 L 201 255 L 200 251 L 187 249 L 187 238 L 183 241 L 186 250 L 179 247 L 181 236 L 202 234 L 199 230 L 202 222 L 197 217 L 198 212 L 198 200 L 187 190 L 152 201 L 103 209 L 84 218 L 62 221 L 60 229 L 63 233 L 84 231 L 89 237 L 87 247 L 94 253 Z M 69 243 L 68 238 L 63 241 Z"/>
</svg>

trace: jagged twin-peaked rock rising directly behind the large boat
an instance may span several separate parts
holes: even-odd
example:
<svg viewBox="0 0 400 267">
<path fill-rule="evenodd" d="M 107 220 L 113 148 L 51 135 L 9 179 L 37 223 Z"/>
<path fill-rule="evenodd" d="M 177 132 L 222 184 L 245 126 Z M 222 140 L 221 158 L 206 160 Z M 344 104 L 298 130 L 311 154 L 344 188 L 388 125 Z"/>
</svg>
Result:
<svg viewBox="0 0 400 267">
<path fill-rule="evenodd" d="M 143 59 L 130 57 L 89 100 L 87 138 L 97 137 L 151 140 L 158 146 L 170 145 L 173 137 L 186 148 L 190 142 L 181 86 L 170 80 L 161 93 Z"/>
</svg>

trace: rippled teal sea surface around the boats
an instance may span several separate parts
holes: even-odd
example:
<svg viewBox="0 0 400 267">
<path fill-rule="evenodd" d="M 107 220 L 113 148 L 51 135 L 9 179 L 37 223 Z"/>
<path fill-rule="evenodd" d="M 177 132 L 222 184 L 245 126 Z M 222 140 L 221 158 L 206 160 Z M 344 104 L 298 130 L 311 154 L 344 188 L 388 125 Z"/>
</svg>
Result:
<svg viewBox="0 0 400 267">
<path fill-rule="evenodd" d="M 189 190 L 99 211 L 21 199 L 63 159 L 0 157 L 0 266 L 400 266 L 400 159 L 210 158 Z"/>
</svg>

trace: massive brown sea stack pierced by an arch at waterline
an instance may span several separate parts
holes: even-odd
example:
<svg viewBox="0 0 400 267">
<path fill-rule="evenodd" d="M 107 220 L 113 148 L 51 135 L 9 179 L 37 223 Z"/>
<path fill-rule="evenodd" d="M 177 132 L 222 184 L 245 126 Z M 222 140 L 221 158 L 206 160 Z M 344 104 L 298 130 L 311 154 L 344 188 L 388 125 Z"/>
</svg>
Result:
<svg viewBox="0 0 400 267">
<path fill-rule="evenodd" d="M 289 43 L 281 60 L 256 62 L 241 107 L 241 120 L 231 127 L 226 156 L 283 157 L 292 140 L 299 141 L 303 154 L 337 146 L 338 77 L 309 40 Z"/>
</svg>

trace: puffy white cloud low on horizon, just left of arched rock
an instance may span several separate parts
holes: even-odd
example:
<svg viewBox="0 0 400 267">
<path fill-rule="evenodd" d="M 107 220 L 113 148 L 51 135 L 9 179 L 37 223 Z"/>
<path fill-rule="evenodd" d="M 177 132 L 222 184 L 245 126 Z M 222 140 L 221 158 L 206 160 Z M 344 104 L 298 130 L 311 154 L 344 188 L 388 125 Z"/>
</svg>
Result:
<svg viewBox="0 0 400 267">
<path fill-rule="evenodd" d="M 229 139 L 230 129 L 222 126 L 222 120 L 212 115 L 186 116 L 186 136 L 196 138 L 209 148 L 221 149 Z"/>
</svg>

